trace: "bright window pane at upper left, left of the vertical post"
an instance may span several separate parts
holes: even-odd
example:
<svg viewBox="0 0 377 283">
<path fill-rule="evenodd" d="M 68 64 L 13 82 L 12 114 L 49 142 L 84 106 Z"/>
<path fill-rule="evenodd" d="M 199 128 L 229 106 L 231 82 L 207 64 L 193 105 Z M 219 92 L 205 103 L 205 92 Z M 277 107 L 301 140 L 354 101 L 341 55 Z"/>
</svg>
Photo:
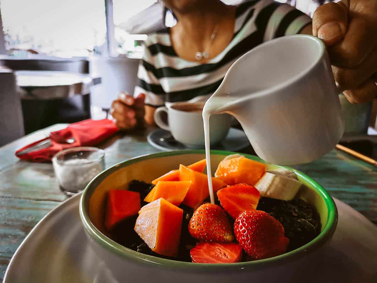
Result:
<svg viewBox="0 0 377 283">
<path fill-rule="evenodd" d="M 20 49 L 60 57 L 103 52 L 104 0 L 1 0 L 0 9 L 13 55 L 25 56 Z"/>
</svg>

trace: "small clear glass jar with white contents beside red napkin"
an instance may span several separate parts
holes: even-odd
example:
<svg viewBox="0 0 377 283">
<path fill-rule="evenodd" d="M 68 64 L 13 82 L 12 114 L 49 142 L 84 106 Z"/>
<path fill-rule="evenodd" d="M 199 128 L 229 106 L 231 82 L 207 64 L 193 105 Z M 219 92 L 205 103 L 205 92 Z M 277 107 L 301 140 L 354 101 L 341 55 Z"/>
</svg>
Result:
<svg viewBox="0 0 377 283">
<path fill-rule="evenodd" d="M 58 152 L 52 158 L 61 191 L 74 195 L 105 169 L 105 152 L 99 148 L 79 147 Z"/>
</svg>

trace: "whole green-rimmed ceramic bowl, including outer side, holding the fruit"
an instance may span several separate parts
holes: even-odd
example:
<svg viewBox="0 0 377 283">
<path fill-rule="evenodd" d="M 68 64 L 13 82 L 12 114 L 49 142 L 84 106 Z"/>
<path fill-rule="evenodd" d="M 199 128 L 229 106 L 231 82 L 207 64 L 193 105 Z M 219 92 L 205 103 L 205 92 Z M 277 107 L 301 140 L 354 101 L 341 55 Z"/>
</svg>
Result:
<svg viewBox="0 0 377 283">
<path fill-rule="evenodd" d="M 211 151 L 211 171 L 219 162 L 234 152 Z M 252 160 L 260 158 L 243 154 Z M 293 282 L 308 274 L 300 272 L 300 265 L 320 254 L 331 239 L 337 225 L 337 209 L 333 199 L 316 181 L 293 170 L 304 184 L 297 194 L 317 209 L 321 232 L 308 244 L 285 254 L 264 260 L 229 264 L 188 263 L 132 251 L 111 240 L 104 228 L 105 199 L 110 189 L 126 189 L 131 180 L 150 183 L 156 177 L 176 169 L 179 164 L 190 164 L 205 158 L 204 151 L 172 151 L 135 157 L 118 163 L 97 175 L 86 187 L 80 201 L 80 217 L 92 249 L 100 255 L 115 280 L 126 282 L 230 282 L 253 279 L 255 282 Z M 267 164 L 268 169 L 281 166 Z M 313 257 L 315 258 L 315 257 Z M 314 269 L 314 267 L 313 267 Z M 316 267 L 317 269 L 317 267 Z M 272 272 L 271 272 L 272 271 Z M 314 271 L 314 270 L 313 270 Z M 314 272 L 313 272 L 314 273 Z M 301 277 L 300 277 L 301 276 Z M 294 279 L 293 279 L 294 278 Z"/>
</svg>

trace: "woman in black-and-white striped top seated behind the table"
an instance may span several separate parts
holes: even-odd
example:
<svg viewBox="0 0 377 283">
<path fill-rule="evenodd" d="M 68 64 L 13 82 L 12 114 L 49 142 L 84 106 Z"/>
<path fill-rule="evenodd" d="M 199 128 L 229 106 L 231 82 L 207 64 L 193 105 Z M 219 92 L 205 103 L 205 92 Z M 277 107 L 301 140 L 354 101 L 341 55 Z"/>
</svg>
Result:
<svg viewBox="0 0 377 283">
<path fill-rule="evenodd" d="M 218 88 L 235 60 L 267 40 L 312 34 L 310 17 L 273 0 L 249 0 L 238 6 L 225 5 L 220 0 L 164 0 L 164 4 L 178 22 L 172 28 L 150 34 L 145 41 L 134 96 L 121 94 L 112 104 L 112 116 L 120 128 L 133 128 L 143 117 L 153 124 L 154 110 L 165 102 L 205 99 Z M 330 6 L 321 6 L 325 9 L 318 10 L 317 22 L 313 20 L 313 34 L 328 46 L 346 38 L 347 25 L 342 26 L 344 7 L 335 3 Z M 324 28 L 319 29 L 321 26 Z M 369 69 L 367 79 L 377 71 Z M 365 77 L 366 72 L 362 72 Z M 369 100 L 377 93 L 373 87 L 369 85 L 369 97 L 365 95 Z"/>
</svg>

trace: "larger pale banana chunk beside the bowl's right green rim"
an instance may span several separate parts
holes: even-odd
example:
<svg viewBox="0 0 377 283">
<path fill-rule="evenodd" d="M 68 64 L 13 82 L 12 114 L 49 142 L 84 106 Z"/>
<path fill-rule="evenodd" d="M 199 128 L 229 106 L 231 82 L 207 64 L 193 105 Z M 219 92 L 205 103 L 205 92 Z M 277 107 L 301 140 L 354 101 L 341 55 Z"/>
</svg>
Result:
<svg viewBox="0 0 377 283">
<path fill-rule="evenodd" d="M 297 194 L 302 183 L 294 178 L 266 172 L 255 184 L 261 197 L 291 200 Z"/>
</svg>

